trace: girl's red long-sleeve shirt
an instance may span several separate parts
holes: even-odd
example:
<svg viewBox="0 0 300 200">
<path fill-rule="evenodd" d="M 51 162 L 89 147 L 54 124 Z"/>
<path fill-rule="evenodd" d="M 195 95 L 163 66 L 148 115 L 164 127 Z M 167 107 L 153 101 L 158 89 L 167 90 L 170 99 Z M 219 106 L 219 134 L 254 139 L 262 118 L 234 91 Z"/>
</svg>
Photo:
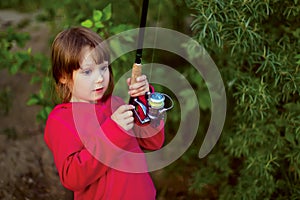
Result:
<svg viewBox="0 0 300 200">
<path fill-rule="evenodd" d="M 135 125 L 125 131 L 111 119 L 122 104 L 114 96 L 99 104 L 65 103 L 48 117 L 45 142 L 61 183 L 76 200 L 155 199 L 142 149 L 162 147 L 163 121 L 157 128 Z"/>
</svg>

